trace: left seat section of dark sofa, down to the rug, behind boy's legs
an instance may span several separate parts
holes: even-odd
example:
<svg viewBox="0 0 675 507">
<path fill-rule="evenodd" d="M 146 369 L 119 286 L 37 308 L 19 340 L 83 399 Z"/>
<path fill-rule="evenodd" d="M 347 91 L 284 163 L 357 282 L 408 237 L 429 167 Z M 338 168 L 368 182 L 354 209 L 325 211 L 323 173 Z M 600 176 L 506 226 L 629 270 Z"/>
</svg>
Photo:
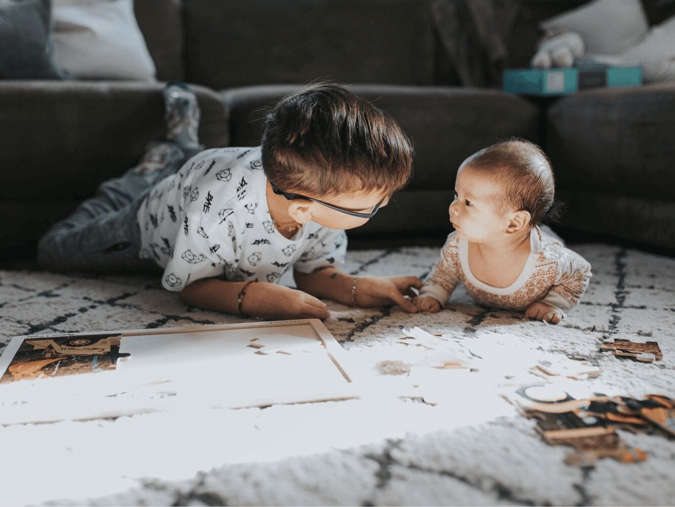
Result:
<svg viewBox="0 0 675 507">
<path fill-rule="evenodd" d="M 146 145 L 165 138 L 161 84 L 0 82 L 0 255 L 34 247 L 53 222 L 108 178 L 135 166 Z M 200 141 L 229 141 L 223 103 L 194 87 Z"/>
</svg>

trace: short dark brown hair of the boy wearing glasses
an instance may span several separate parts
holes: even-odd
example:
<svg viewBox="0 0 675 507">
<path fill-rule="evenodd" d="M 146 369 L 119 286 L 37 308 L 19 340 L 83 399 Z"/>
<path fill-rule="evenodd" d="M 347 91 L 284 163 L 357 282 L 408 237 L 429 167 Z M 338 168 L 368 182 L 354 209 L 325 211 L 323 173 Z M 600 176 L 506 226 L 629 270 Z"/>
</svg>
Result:
<svg viewBox="0 0 675 507">
<path fill-rule="evenodd" d="M 412 174 L 412 146 L 396 121 L 331 82 L 281 99 L 267 115 L 262 151 L 267 178 L 286 192 L 392 195 Z"/>
</svg>

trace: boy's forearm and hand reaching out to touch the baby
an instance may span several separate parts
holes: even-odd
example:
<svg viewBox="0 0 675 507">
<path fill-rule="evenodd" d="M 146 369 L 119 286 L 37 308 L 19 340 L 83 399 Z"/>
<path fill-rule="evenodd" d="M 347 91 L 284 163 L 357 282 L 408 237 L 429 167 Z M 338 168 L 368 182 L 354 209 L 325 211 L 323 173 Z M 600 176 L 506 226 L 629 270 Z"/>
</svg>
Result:
<svg viewBox="0 0 675 507">
<path fill-rule="evenodd" d="M 334 266 L 311 273 L 295 270 L 293 275 L 298 289 L 317 297 L 327 297 L 348 306 L 356 303 L 362 308 L 397 304 L 410 313 L 415 313 L 417 308 L 404 295 L 410 287 L 418 289 L 422 285 L 416 276 L 353 276 Z M 352 301 L 352 294 L 355 301 Z"/>
</svg>

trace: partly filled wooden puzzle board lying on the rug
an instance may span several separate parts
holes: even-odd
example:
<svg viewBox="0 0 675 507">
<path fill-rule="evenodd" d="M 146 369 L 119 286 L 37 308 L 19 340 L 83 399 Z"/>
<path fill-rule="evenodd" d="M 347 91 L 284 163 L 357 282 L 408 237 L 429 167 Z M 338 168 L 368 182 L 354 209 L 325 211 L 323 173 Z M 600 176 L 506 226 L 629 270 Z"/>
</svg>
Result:
<svg viewBox="0 0 675 507">
<path fill-rule="evenodd" d="M 352 397 L 317 319 L 22 336 L 0 358 L 0 425 Z"/>
</svg>

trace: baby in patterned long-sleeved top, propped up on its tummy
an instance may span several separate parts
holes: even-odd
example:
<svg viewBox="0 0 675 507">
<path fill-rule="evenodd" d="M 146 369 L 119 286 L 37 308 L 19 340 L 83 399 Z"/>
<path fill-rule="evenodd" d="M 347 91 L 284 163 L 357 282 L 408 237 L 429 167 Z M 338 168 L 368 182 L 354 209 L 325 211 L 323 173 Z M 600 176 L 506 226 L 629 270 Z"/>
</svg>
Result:
<svg viewBox="0 0 675 507">
<path fill-rule="evenodd" d="M 414 299 L 438 312 L 464 283 L 480 304 L 557 324 L 589 284 L 591 265 L 541 220 L 553 205 L 551 163 L 533 143 L 497 143 L 462 162 L 450 205 L 455 232 Z"/>
</svg>

